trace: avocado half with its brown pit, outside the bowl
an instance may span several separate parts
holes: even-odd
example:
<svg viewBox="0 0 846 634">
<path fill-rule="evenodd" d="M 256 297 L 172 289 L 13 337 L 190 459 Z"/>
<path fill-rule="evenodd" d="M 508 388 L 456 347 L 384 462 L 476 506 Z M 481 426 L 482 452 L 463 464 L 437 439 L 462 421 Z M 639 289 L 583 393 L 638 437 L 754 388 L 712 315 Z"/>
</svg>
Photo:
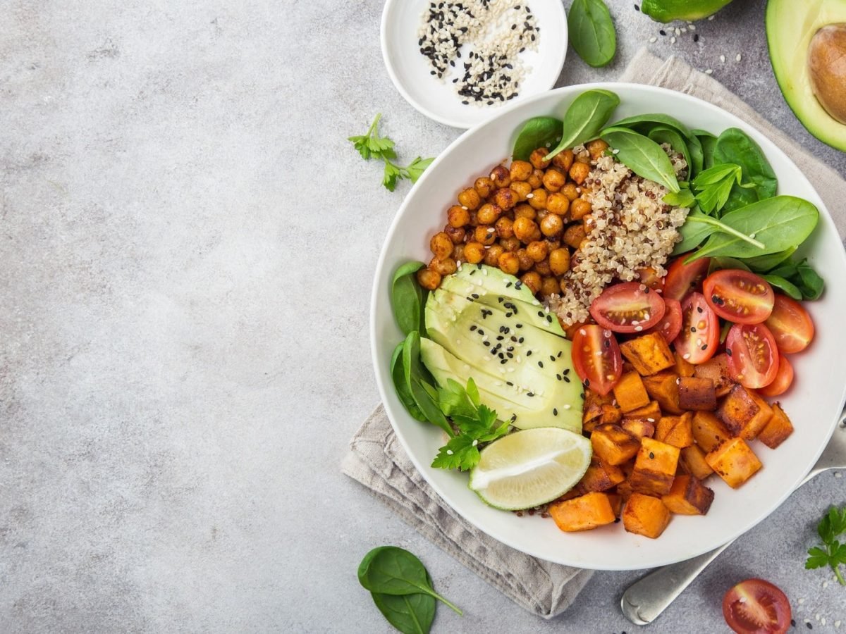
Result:
<svg viewBox="0 0 846 634">
<path fill-rule="evenodd" d="M 810 134 L 846 151 L 846 0 L 769 0 L 766 41 L 790 109 Z"/>
</svg>

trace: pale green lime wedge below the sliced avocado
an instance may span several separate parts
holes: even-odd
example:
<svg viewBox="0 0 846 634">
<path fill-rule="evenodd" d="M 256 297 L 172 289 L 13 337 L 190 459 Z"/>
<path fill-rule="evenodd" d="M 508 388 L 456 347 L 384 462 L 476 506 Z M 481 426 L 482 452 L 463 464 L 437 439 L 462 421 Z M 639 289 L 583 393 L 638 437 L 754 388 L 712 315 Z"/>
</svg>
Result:
<svg viewBox="0 0 846 634">
<path fill-rule="evenodd" d="M 592 453 L 590 440 L 567 429 L 523 429 L 481 450 L 470 489 L 503 511 L 546 504 L 579 482 Z"/>
</svg>

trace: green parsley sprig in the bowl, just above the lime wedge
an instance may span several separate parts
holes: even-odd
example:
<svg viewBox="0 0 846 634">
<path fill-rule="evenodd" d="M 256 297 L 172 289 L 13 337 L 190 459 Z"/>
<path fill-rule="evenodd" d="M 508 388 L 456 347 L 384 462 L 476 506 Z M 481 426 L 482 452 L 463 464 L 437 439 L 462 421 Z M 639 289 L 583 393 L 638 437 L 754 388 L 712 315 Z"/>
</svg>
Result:
<svg viewBox="0 0 846 634">
<path fill-rule="evenodd" d="M 497 413 L 482 405 L 472 379 L 467 388 L 449 379 L 437 389 L 441 411 L 452 419 L 458 433 L 437 452 L 431 466 L 437 469 L 469 471 L 479 462 L 479 444 L 497 440 L 508 433 L 509 422 L 497 426 Z"/>
</svg>

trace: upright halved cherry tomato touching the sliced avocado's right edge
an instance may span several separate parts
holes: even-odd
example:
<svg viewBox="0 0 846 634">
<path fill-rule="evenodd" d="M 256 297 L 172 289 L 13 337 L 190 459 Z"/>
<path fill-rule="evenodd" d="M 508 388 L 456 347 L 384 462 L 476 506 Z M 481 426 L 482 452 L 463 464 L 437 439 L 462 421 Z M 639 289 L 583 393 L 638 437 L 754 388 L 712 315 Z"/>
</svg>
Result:
<svg viewBox="0 0 846 634">
<path fill-rule="evenodd" d="M 586 387 L 605 396 L 623 374 L 623 357 L 612 331 L 584 325 L 573 337 L 573 367 Z"/>
</svg>

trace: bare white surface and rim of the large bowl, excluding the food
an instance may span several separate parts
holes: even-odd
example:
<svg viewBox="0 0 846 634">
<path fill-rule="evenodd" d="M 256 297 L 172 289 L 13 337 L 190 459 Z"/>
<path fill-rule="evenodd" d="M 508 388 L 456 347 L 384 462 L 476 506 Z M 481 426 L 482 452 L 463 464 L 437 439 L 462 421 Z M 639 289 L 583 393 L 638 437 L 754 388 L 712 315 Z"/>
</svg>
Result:
<svg viewBox="0 0 846 634">
<path fill-rule="evenodd" d="M 645 112 L 666 112 L 692 128 L 719 133 L 742 128 L 761 145 L 772 163 L 780 194 L 810 200 L 820 210 L 820 222 L 803 246 L 810 263 L 825 277 L 823 297 L 809 303 L 816 339 L 804 353 L 791 357 L 794 386 L 780 400 L 792 418 L 795 433 L 773 451 L 753 443 L 764 468 L 738 490 L 710 478 L 714 503 L 706 516 L 673 516 L 661 538 L 626 533 L 612 524 L 584 533 L 562 533 L 550 519 L 518 517 L 486 506 L 467 488 L 467 475 L 433 469 L 432 457 L 442 444 L 437 428 L 411 418 L 393 390 L 388 363 L 402 335 L 394 323 L 388 288 L 393 271 L 407 260 L 428 261 L 429 238 L 441 229 L 456 194 L 480 174 L 510 154 L 516 130 L 530 117 L 562 112 L 588 88 L 615 91 L 622 103 L 614 119 Z M 387 232 L 376 267 L 371 303 L 371 350 L 376 382 L 399 440 L 420 473 L 461 516 L 493 538 L 529 555 L 595 570 L 632 570 L 662 566 L 700 555 L 761 522 L 790 495 L 814 465 L 837 423 L 846 385 L 846 254 L 831 217 L 807 178 L 782 150 L 732 114 L 691 96 L 633 84 L 576 85 L 552 90 L 516 104 L 497 118 L 462 134 L 431 164 L 411 189 Z"/>
</svg>

